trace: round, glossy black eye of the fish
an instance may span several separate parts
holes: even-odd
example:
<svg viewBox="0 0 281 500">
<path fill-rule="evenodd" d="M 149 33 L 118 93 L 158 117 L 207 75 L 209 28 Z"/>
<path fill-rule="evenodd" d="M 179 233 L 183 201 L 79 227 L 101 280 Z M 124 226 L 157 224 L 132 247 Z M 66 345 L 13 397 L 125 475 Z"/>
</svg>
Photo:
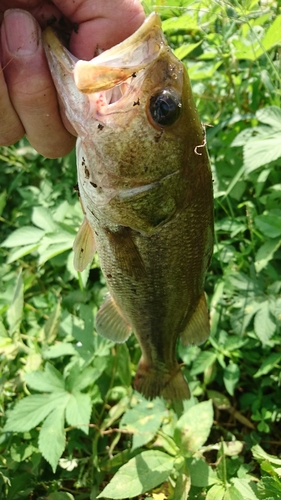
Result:
<svg viewBox="0 0 281 500">
<path fill-rule="evenodd" d="M 150 115 L 157 125 L 173 125 L 180 116 L 181 107 L 178 95 L 172 90 L 162 90 L 150 98 Z"/>
</svg>

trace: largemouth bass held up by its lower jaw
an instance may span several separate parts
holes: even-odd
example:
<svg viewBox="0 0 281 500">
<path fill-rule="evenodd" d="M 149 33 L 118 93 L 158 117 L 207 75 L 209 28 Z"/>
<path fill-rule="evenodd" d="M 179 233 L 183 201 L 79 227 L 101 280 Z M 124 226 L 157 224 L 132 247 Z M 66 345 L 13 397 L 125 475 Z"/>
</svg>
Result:
<svg viewBox="0 0 281 500">
<path fill-rule="evenodd" d="M 96 330 L 114 342 L 134 332 L 142 350 L 135 388 L 146 398 L 188 398 L 176 347 L 209 335 L 213 195 L 187 72 L 155 13 L 91 61 L 78 61 L 50 28 L 44 44 L 78 135 L 85 219 L 75 266 L 83 270 L 97 251 L 109 290 Z"/>
</svg>

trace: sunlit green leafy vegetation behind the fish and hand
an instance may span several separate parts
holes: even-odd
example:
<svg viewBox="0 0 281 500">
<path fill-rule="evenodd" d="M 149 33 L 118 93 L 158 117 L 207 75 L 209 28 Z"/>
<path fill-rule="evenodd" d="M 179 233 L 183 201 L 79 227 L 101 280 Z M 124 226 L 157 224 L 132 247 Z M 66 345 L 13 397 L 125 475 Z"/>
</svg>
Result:
<svg viewBox="0 0 281 500">
<path fill-rule="evenodd" d="M 132 389 L 140 349 L 94 332 L 74 153 L 0 150 L 0 497 L 281 499 L 281 13 L 273 0 L 147 1 L 206 124 L 216 243 L 210 339 L 183 349 L 192 398 Z M 187 138 L 188 140 L 188 138 Z M 102 492 L 102 493 L 101 493 Z"/>
</svg>

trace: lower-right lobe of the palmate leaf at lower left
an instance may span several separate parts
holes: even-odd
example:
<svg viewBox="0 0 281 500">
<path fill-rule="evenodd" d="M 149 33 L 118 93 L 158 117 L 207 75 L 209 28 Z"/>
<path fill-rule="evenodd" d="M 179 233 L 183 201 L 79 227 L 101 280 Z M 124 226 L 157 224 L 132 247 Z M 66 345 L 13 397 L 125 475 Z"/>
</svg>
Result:
<svg viewBox="0 0 281 500">
<path fill-rule="evenodd" d="M 75 391 L 70 394 L 66 406 L 66 420 L 69 425 L 73 425 L 81 429 L 85 434 L 89 434 L 91 410 L 92 403 L 90 395 Z"/>
</svg>

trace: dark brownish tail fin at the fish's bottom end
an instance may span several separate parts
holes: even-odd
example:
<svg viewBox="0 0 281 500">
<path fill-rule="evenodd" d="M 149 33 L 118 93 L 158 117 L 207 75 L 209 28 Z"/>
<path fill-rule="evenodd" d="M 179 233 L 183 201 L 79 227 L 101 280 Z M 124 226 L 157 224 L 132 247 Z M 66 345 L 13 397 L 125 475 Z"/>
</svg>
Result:
<svg viewBox="0 0 281 500">
<path fill-rule="evenodd" d="M 157 370 L 149 366 L 143 358 L 136 374 L 135 389 L 147 399 L 163 396 L 171 401 L 182 401 L 190 398 L 189 387 L 180 365 L 171 372 Z"/>
</svg>

